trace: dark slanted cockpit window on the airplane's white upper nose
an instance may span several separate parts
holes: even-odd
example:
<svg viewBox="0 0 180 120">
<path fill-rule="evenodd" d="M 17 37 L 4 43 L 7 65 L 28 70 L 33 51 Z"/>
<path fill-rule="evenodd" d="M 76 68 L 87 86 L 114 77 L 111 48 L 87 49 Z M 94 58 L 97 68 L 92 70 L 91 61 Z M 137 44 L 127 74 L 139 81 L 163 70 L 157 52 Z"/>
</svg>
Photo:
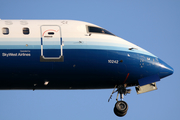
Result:
<svg viewBox="0 0 180 120">
<path fill-rule="evenodd" d="M 102 33 L 102 34 L 114 35 L 114 34 L 110 33 L 109 31 L 107 31 L 103 28 L 99 28 L 99 27 L 88 26 L 88 31 L 92 32 L 92 33 Z"/>
</svg>

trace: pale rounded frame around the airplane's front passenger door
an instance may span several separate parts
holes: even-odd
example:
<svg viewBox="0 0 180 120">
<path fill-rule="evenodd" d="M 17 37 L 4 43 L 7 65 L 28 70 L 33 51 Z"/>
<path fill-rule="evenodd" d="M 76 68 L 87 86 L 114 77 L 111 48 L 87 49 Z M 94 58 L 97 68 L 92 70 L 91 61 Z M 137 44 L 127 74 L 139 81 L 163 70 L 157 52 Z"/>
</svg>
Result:
<svg viewBox="0 0 180 120">
<path fill-rule="evenodd" d="M 59 57 L 45 57 L 43 54 L 43 39 L 44 39 L 44 34 L 48 31 L 48 30 L 42 30 L 43 26 L 49 26 L 49 30 L 50 31 L 54 31 L 54 32 L 59 32 L 59 42 L 60 42 L 60 56 Z M 51 29 L 51 27 L 58 27 L 59 30 L 53 30 Z M 41 32 L 41 56 L 40 56 L 40 62 L 64 62 L 64 56 L 63 56 L 63 45 L 62 45 L 62 34 L 61 34 L 61 27 L 58 25 L 41 25 L 40 26 L 40 32 Z"/>
</svg>

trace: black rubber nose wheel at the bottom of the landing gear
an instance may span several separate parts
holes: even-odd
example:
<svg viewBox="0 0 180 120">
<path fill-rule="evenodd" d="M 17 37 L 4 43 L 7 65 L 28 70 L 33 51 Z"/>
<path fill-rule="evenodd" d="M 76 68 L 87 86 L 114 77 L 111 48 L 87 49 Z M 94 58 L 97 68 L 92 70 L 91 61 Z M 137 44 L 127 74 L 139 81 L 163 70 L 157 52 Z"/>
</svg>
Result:
<svg viewBox="0 0 180 120">
<path fill-rule="evenodd" d="M 128 105 L 126 102 L 124 102 L 124 101 L 116 102 L 116 104 L 114 106 L 114 113 L 117 116 L 123 117 L 124 115 L 126 115 L 127 110 L 128 110 Z"/>
</svg>

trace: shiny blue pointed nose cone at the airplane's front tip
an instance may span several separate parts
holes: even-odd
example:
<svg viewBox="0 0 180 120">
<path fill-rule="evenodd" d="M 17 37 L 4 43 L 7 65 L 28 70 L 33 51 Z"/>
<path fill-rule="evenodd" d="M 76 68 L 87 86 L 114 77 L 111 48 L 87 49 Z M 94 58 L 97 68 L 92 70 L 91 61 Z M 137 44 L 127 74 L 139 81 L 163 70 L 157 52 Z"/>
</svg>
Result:
<svg viewBox="0 0 180 120">
<path fill-rule="evenodd" d="M 160 78 L 164 78 L 166 76 L 172 75 L 174 72 L 174 69 L 169 66 L 168 64 L 166 64 L 164 61 L 162 61 L 161 59 L 159 59 L 159 77 Z"/>
</svg>

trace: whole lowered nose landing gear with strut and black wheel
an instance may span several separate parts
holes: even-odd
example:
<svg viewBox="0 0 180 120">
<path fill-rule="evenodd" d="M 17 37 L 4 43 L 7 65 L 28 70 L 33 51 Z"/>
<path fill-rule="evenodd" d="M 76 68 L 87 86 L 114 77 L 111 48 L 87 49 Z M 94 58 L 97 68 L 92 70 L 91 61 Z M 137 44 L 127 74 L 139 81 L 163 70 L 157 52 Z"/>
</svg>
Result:
<svg viewBox="0 0 180 120">
<path fill-rule="evenodd" d="M 116 88 L 117 88 L 117 90 L 115 91 Z M 124 115 L 126 115 L 126 113 L 128 111 L 128 104 L 123 101 L 123 95 L 130 93 L 131 89 L 126 89 L 126 85 L 119 85 L 118 87 L 116 85 L 114 87 L 112 94 L 114 94 L 115 92 L 118 92 L 118 93 L 117 93 L 117 97 L 116 97 L 117 102 L 114 106 L 114 113 L 119 117 L 123 117 Z M 111 94 L 110 98 L 108 99 L 108 102 L 112 98 L 112 94 Z M 119 94 L 120 94 L 120 99 L 121 99 L 120 101 L 118 101 Z"/>
</svg>

